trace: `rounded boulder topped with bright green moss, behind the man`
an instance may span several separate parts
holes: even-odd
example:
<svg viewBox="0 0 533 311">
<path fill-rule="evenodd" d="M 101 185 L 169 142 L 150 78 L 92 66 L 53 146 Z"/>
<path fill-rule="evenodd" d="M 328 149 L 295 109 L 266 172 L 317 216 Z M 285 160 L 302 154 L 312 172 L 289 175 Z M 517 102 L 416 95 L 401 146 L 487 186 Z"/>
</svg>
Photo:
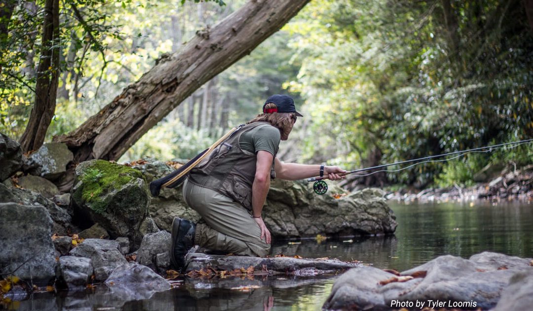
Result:
<svg viewBox="0 0 533 311">
<path fill-rule="evenodd" d="M 148 213 L 149 192 L 141 172 L 103 160 L 80 163 L 71 192 L 75 219 L 99 223 L 112 239 L 127 237 L 137 249 L 144 234 L 158 231 Z"/>
</svg>

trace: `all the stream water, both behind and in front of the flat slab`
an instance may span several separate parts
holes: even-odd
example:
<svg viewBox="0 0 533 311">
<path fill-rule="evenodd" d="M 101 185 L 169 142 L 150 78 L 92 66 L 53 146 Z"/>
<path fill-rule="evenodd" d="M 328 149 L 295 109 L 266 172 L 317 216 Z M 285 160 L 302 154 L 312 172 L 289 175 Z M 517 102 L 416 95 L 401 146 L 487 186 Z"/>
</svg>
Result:
<svg viewBox="0 0 533 311">
<path fill-rule="evenodd" d="M 279 241 L 271 255 L 359 260 L 398 271 L 440 255 L 468 258 L 481 251 L 533 257 L 533 206 L 527 203 L 392 205 L 391 237 Z M 149 299 L 120 301 L 105 290 L 36 295 L 19 310 L 320 310 L 338 275 L 320 278 L 185 279 Z"/>
</svg>

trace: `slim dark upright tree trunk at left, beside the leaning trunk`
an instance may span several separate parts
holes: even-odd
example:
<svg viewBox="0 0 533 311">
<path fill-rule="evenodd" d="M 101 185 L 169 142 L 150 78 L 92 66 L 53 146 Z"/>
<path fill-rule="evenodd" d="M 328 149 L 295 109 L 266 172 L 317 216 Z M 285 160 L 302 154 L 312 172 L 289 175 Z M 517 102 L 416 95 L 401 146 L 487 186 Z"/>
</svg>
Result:
<svg viewBox="0 0 533 311">
<path fill-rule="evenodd" d="M 35 104 L 26 130 L 20 138 L 22 150 L 28 152 L 43 145 L 46 131 L 55 112 L 59 81 L 59 0 L 46 0 L 43 23 L 43 49 L 37 68 Z"/>
</svg>

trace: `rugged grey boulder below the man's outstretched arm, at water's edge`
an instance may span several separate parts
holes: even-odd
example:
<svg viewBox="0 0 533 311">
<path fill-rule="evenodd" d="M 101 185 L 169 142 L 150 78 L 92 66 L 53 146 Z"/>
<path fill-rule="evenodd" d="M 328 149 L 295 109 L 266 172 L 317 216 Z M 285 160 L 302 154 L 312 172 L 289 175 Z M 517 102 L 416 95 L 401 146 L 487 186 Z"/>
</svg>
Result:
<svg viewBox="0 0 533 311">
<path fill-rule="evenodd" d="M 272 236 L 353 236 L 393 233 L 397 223 L 385 193 L 364 189 L 348 194 L 333 184 L 324 195 L 301 181 L 272 181 L 263 219 Z"/>
</svg>

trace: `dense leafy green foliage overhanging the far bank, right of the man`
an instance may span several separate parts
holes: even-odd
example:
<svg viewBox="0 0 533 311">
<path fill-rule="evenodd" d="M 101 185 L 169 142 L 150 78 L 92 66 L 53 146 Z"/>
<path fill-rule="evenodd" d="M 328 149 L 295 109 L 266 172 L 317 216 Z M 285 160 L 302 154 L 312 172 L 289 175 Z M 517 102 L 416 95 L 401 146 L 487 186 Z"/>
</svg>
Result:
<svg viewBox="0 0 533 311">
<path fill-rule="evenodd" d="M 310 159 L 329 155 L 354 167 L 373 150 L 390 163 L 533 135 L 533 40 L 523 4 L 451 0 L 455 21 L 447 21 L 443 3 L 306 6 L 290 29 L 302 68 L 287 85 L 308 99 L 311 132 L 322 135 L 306 143 Z M 388 177 L 423 186 L 443 167 Z"/>
</svg>

